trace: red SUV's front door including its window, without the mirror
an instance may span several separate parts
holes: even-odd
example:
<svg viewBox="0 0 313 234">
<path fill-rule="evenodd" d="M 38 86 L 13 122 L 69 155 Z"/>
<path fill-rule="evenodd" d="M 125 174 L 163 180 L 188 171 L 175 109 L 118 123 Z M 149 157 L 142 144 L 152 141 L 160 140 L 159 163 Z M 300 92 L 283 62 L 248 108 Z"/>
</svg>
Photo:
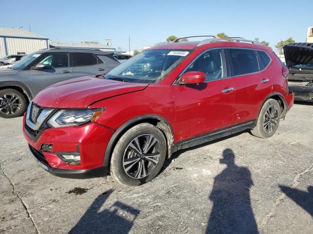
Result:
<svg viewBox="0 0 313 234">
<path fill-rule="evenodd" d="M 223 49 L 203 52 L 185 70 L 206 74 L 199 85 L 173 85 L 176 141 L 198 137 L 233 125 L 235 90 L 227 78 Z"/>
</svg>

